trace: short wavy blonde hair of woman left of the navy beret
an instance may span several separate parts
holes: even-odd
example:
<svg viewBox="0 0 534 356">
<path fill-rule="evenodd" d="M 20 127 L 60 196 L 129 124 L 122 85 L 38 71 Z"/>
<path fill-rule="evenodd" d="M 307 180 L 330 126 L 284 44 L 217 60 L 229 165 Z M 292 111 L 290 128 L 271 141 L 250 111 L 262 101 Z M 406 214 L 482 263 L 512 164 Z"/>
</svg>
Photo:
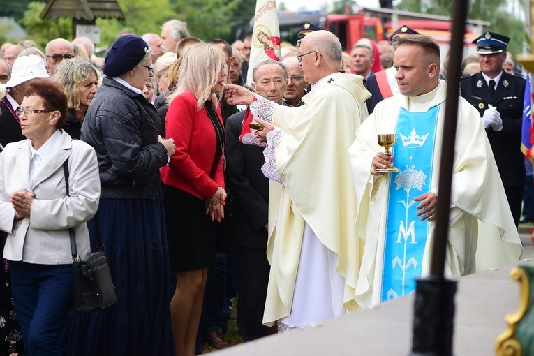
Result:
<svg viewBox="0 0 534 356">
<path fill-rule="evenodd" d="M 53 79 L 63 87 L 69 109 L 80 110 L 80 84 L 91 74 L 96 75 L 98 80 L 96 67 L 82 57 L 68 59 L 59 64 Z"/>
</svg>

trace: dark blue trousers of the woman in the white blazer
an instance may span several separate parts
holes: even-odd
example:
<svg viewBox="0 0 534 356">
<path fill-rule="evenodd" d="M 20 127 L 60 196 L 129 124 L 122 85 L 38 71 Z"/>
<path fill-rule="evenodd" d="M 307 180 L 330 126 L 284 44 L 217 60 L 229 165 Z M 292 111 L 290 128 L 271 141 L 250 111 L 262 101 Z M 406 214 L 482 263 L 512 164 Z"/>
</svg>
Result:
<svg viewBox="0 0 534 356">
<path fill-rule="evenodd" d="M 61 332 L 73 306 L 72 265 L 11 262 L 11 286 L 26 353 L 61 356 Z"/>
</svg>

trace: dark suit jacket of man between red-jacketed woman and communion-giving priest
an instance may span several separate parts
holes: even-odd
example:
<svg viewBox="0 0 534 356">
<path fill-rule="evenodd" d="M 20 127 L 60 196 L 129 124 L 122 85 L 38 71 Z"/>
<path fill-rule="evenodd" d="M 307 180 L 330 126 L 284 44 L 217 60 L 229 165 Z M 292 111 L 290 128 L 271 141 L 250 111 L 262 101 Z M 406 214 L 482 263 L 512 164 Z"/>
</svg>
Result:
<svg viewBox="0 0 534 356">
<path fill-rule="evenodd" d="M 239 142 L 245 111 L 226 120 L 226 184 L 232 192 L 233 244 L 266 249 L 269 179 L 261 172 L 263 148 Z"/>
</svg>

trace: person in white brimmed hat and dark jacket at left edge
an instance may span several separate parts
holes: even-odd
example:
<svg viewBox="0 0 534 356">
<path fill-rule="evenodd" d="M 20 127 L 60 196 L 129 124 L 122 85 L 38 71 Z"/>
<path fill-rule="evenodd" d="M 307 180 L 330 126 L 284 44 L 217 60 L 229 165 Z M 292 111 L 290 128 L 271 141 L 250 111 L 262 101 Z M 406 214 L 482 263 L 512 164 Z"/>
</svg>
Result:
<svg viewBox="0 0 534 356">
<path fill-rule="evenodd" d="M 0 144 L 2 146 L 24 140 L 15 110 L 22 103 L 29 82 L 44 77 L 50 77 L 46 71 L 45 62 L 34 54 L 19 57 L 13 63 L 11 79 L 4 84 L 4 87 L 8 88 L 8 94 L 0 101 Z"/>
</svg>

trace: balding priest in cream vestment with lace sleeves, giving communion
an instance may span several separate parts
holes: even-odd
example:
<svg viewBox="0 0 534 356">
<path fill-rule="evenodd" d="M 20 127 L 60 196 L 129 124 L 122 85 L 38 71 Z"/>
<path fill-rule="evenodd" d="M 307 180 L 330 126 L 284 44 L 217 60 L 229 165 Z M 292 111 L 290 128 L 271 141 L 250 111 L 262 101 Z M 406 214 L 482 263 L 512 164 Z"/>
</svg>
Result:
<svg viewBox="0 0 534 356">
<path fill-rule="evenodd" d="M 301 107 L 276 105 L 234 85 L 226 94 L 228 103 L 249 104 L 265 126 L 258 131 L 267 137 L 262 170 L 281 183 L 278 199 L 269 194 L 263 318 L 266 325 L 279 322 L 281 332 L 357 309 L 360 252 L 348 147 L 367 116 L 369 92 L 361 76 L 340 73 L 341 44 L 329 31 L 308 34 L 297 59 L 313 84 Z"/>
</svg>

